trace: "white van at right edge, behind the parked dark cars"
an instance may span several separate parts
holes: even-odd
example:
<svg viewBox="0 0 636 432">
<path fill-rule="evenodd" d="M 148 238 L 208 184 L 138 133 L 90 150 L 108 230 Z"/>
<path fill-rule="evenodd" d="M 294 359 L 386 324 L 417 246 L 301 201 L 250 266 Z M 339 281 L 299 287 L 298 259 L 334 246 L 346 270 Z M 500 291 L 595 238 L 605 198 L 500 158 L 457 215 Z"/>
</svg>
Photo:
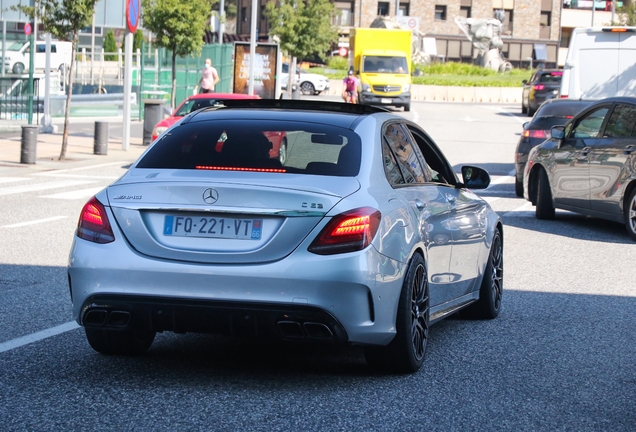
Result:
<svg viewBox="0 0 636 432">
<path fill-rule="evenodd" d="M 560 95 L 592 100 L 636 96 L 636 27 L 575 28 Z"/>
</svg>

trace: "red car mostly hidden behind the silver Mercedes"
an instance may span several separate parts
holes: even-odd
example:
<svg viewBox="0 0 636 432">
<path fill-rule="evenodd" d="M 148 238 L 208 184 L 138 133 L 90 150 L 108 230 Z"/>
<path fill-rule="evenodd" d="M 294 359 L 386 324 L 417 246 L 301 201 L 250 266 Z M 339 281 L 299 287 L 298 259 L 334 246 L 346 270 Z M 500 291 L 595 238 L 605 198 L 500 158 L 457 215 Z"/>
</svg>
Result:
<svg viewBox="0 0 636 432">
<path fill-rule="evenodd" d="M 252 96 L 241 93 L 202 93 L 190 96 L 181 102 L 181 105 L 174 110 L 174 113 L 170 117 L 161 120 L 155 125 L 152 130 L 152 140 L 156 140 L 157 137 L 168 130 L 170 126 L 191 112 L 215 106 L 217 103 L 225 100 L 260 98 L 260 96 Z M 272 143 L 272 148 L 269 151 L 269 157 L 272 159 L 278 158 L 281 163 L 285 163 L 285 159 L 287 158 L 287 134 L 285 132 L 271 131 L 265 132 L 265 136 Z"/>
</svg>

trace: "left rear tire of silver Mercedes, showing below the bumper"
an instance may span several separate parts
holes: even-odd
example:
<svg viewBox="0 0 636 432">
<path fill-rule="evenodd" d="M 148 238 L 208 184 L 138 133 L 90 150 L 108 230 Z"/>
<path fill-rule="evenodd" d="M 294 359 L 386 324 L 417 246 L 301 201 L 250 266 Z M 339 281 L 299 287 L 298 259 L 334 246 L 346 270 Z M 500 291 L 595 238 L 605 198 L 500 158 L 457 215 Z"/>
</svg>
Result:
<svg viewBox="0 0 636 432">
<path fill-rule="evenodd" d="M 143 354 L 155 340 L 156 332 L 130 330 L 104 330 L 85 327 L 86 339 L 95 351 L 107 355 L 139 355 Z"/>
</svg>

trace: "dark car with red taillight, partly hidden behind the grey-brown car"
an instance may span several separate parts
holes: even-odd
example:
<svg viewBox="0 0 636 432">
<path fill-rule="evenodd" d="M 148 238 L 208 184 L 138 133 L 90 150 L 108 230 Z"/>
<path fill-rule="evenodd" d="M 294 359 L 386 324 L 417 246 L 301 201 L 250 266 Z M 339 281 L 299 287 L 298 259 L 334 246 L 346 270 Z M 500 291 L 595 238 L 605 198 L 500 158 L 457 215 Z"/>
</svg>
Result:
<svg viewBox="0 0 636 432">
<path fill-rule="evenodd" d="M 523 196 L 523 170 L 530 150 L 550 138 L 552 126 L 565 124 L 593 101 L 576 99 L 548 99 L 543 102 L 532 120 L 523 124 L 523 132 L 515 149 L 515 193 Z"/>
</svg>

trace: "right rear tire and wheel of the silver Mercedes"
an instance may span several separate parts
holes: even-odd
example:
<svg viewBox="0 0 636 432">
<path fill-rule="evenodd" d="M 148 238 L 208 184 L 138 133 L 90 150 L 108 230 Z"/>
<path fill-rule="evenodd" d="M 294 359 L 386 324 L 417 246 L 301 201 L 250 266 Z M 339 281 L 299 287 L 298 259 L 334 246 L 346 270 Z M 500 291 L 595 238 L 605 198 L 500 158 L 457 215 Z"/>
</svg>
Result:
<svg viewBox="0 0 636 432">
<path fill-rule="evenodd" d="M 365 347 L 367 364 L 393 373 L 417 372 L 426 354 L 430 303 L 426 265 L 415 254 L 404 277 L 396 318 L 396 335 L 385 347 Z"/>
</svg>

